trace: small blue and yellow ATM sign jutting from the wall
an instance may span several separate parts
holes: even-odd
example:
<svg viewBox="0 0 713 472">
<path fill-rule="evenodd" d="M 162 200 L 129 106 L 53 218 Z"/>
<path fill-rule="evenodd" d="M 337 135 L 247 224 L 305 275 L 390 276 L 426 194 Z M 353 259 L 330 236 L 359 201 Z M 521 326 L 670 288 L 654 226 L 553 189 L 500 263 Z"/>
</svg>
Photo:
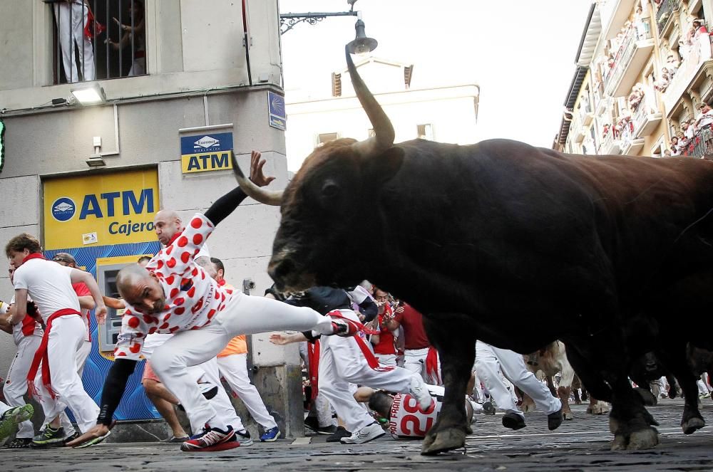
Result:
<svg viewBox="0 0 713 472">
<path fill-rule="evenodd" d="M 232 169 L 232 132 L 182 136 L 181 172 Z"/>
</svg>

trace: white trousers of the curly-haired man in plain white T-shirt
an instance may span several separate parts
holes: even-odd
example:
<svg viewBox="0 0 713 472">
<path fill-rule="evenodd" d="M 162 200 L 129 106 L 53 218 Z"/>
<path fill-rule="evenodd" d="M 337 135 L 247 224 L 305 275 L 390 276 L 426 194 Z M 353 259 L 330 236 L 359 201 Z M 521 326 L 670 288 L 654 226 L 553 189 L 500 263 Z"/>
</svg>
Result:
<svg viewBox="0 0 713 472">
<path fill-rule="evenodd" d="M 42 384 L 41 367 L 35 378 L 35 387 L 40 392 L 39 399 L 46 419 L 51 420 L 69 408 L 83 433 L 96 424 L 99 414 L 99 407 L 85 392 L 78 374 L 77 353 L 84 343 L 85 330 L 83 320 L 75 315 L 56 318 L 52 322 L 47 354 L 55 399 Z"/>
</svg>

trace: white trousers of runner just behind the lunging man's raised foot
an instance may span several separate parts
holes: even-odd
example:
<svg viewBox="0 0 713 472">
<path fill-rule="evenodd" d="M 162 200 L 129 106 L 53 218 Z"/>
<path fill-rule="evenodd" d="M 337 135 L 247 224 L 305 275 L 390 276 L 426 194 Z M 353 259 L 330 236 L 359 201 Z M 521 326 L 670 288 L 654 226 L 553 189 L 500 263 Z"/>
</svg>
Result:
<svg viewBox="0 0 713 472">
<path fill-rule="evenodd" d="M 357 320 L 351 310 L 339 310 L 345 318 Z M 348 431 L 357 431 L 374 422 L 368 411 L 352 396 L 352 384 L 389 392 L 408 393 L 413 372 L 402 367 L 374 370 L 352 337 L 322 336 L 319 350 L 319 392 L 329 400 Z"/>
</svg>

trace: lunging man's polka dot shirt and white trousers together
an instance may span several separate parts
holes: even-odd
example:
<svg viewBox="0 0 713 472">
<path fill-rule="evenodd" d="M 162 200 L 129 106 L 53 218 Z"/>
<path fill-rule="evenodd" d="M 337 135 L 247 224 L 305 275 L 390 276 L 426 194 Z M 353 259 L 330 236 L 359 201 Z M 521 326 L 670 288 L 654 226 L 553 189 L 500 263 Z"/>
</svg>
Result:
<svg viewBox="0 0 713 472">
<path fill-rule="evenodd" d="M 194 259 L 212 231 L 212 223 L 195 214 L 183 233 L 149 261 L 146 268 L 158 277 L 166 295 L 165 309 L 150 314 L 129 306 L 114 351 L 118 358 L 138 360 L 146 334 L 175 333 L 156 347 L 151 365 L 185 407 L 194 431 L 205 424 L 225 429 L 230 422 L 200 394 L 188 366 L 215 357 L 236 335 L 277 330 L 333 332 L 331 318 L 311 308 L 221 288 Z"/>
</svg>

